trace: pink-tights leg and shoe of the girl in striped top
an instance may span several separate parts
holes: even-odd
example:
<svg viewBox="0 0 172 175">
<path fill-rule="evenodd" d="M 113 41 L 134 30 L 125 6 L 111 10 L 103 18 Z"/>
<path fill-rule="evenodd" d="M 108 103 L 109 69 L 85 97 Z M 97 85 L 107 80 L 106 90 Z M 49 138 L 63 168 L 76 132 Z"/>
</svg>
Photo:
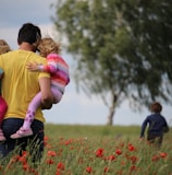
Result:
<svg viewBox="0 0 172 175">
<path fill-rule="evenodd" d="M 30 125 L 34 120 L 37 108 L 41 105 L 41 93 L 39 92 L 28 105 L 23 126 L 15 133 L 11 135 L 12 139 L 23 138 L 33 135 Z"/>
</svg>

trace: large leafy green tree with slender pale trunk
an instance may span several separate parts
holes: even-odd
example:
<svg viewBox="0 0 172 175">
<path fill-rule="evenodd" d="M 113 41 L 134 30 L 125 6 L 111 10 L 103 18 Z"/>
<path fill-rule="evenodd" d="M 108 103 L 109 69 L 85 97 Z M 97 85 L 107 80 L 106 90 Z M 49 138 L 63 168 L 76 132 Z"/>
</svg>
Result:
<svg viewBox="0 0 172 175">
<path fill-rule="evenodd" d="M 169 0 L 62 0 L 53 22 L 67 38 L 75 80 L 115 108 L 172 103 L 172 3 Z M 127 115 L 127 114 L 126 114 Z"/>
</svg>

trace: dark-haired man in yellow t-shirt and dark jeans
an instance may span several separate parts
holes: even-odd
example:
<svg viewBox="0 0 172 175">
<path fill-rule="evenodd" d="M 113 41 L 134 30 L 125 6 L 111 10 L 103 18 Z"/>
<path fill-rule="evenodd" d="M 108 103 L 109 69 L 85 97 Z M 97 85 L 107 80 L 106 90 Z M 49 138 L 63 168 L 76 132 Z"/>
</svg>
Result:
<svg viewBox="0 0 172 175">
<path fill-rule="evenodd" d="M 53 97 L 50 91 L 50 75 L 45 72 L 30 72 L 27 62 L 36 61 L 46 65 L 46 59 L 35 54 L 41 38 L 40 28 L 32 23 L 25 23 L 19 31 L 20 48 L 0 56 L 0 68 L 4 71 L 2 80 L 2 96 L 8 103 L 8 112 L 2 122 L 7 141 L 0 143 L 0 154 L 5 156 L 20 147 L 20 153 L 29 148 L 33 159 L 40 159 L 44 151 L 44 122 L 41 106 L 35 114 L 32 124 L 34 135 L 21 139 L 10 136 L 22 126 L 29 102 L 40 91 L 44 108 L 50 108 Z"/>
</svg>

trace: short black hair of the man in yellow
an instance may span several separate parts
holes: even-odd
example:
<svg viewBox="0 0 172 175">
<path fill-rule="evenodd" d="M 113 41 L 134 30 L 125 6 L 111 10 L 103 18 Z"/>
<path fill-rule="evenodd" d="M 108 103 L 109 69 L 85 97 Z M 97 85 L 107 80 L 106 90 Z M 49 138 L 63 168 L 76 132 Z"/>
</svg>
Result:
<svg viewBox="0 0 172 175">
<path fill-rule="evenodd" d="M 40 38 L 40 28 L 32 23 L 25 23 L 19 31 L 17 43 L 21 45 L 23 42 L 26 42 L 32 45 L 37 43 Z"/>
</svg>

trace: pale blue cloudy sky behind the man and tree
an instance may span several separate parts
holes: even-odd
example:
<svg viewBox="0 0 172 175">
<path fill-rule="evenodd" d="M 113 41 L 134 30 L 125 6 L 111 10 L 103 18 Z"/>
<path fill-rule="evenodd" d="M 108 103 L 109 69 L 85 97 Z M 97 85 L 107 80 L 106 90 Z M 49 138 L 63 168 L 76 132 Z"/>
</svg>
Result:
<svg viewBox="0 0 172 175">
<path fill-rule="evenodd" d="M 53 23 L 50 18 L 54 16 L 51 3 L 57 0 L 1 0 L 0 3 L 0 38 L 5 39 L 12 49 L 17 48 L 16 37 L 23 23 L 32 22 L 40 26 L 42 35 L 53 37 Z M 72 71 L 72 56 L 63 54 L 70 63 Z M 162 104 L 163 105 L 163 104 Z M 54 124 L 81 124 L 81 125 L 106 125 L 108 109 L 100 98 L 88 98 L 84 93 L 76 93 L 73 78 L 67 85 L 62 101 L 53 105 L 50 110 L 44 112 L 47 122 Z M 148 109 L 143 113 L 133 113 L 127 102 L 116 108 L 114 125 L 142 125 Z M 171 106 L 164 106 L 162 114 L 168 122 L 171 122 Z"/>
</svg>

